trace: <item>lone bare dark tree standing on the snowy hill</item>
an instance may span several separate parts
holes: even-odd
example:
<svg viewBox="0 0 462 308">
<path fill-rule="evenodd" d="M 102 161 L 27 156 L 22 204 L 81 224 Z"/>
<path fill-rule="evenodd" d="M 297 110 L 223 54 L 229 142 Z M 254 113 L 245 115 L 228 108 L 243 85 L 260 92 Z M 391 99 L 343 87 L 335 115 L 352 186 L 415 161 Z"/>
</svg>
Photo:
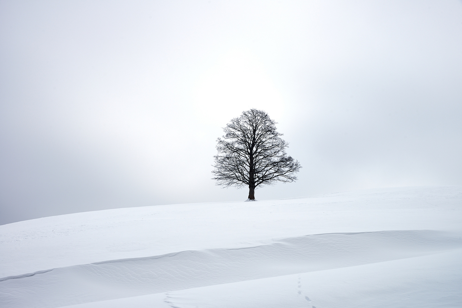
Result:
<svg viewBox="0 0 462 308">
<path fill-rule="evenodd" d="M 249 185 L 249 200 L 255 200 L 258 186 L 297 180 L 294 174 L 302 167 L 287 155 L 289 144 L 275 124 L 263 110 L 250 109 L 223 128 L 212 171 L 217 185 Z"/>
</svg>

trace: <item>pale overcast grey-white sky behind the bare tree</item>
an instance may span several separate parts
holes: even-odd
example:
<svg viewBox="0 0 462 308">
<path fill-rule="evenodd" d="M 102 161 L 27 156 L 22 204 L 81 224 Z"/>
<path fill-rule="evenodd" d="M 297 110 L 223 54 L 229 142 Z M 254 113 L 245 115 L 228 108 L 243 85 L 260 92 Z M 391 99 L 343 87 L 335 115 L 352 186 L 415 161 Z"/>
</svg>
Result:
<svg viewBox="0 0 462 308">
<path fill-rule="evenodd" d="M 462 184 L 461 1 L 0 1 L 0 224 L 244 200 L 263 109 L 303 166 L 257 199 Z"/>
</svg>

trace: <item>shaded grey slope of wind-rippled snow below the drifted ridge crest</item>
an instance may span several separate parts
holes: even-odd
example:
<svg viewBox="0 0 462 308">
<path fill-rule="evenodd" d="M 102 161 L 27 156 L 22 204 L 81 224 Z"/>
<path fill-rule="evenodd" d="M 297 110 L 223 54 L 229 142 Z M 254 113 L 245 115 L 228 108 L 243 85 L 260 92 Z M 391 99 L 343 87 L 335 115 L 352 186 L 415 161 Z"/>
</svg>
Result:
<svg viewBox="0 0 462 308">
<path fill-rule="evenodd" d="M 24 279 L 3 280 L 0 289 L 3 307 L 45 308 L 56 299 L 61 306 L 97 302 L 413 258 L 461 247 L 458 236 L 432 230 L 331 233 L 241 249 L 188 250 L 55 268 L 40 275 L 21 275 Z"/>
</svg>

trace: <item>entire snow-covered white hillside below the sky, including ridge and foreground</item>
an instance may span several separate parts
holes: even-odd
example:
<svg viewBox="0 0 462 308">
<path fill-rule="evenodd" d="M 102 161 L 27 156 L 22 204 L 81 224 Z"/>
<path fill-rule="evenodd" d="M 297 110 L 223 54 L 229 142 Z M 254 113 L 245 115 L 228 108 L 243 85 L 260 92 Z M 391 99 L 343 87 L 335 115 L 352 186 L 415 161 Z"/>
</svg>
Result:
<svg viewBox="0 0 462 308">
<path fill-rule="evenodd" d="M 462 307 L 462 186 L 0 226 L 0 307 Z"/>
</svg>

